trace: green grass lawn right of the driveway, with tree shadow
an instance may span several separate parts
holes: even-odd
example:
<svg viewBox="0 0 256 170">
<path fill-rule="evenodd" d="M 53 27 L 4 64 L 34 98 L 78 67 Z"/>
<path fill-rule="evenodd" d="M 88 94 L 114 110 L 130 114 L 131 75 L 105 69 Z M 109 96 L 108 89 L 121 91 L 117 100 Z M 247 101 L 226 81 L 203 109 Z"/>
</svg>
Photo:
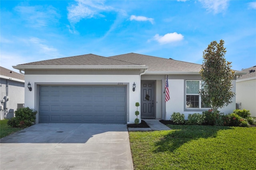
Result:
<svg viewBox="0 0 256 170">
<path fill-rule="evenodd" d="M 168 126 L 129 132 L 135 170 L 256 169 L 256 127 Z"/>
</svg>

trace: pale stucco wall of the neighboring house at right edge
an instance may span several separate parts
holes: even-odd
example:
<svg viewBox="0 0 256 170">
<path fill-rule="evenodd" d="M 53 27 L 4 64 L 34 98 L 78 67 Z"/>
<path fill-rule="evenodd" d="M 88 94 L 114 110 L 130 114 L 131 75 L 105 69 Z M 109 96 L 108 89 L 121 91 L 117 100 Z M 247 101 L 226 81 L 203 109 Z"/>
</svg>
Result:
<svg viewBox="0 0 256 170">
<path fill-rule="evenodd" d="M 241 103 L 241 109 L 250 110 L 256 117 L 256 78 L 236 82 L 236 103 Z"/>
</svg>

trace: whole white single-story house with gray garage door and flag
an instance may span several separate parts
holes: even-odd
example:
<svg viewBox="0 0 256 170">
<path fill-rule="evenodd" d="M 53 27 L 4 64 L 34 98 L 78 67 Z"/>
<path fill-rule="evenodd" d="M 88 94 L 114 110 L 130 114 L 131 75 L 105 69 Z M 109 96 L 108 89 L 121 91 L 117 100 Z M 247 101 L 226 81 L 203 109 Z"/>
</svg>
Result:
<svg viewBox="0 0 256 170">
<path fill-rule="evenodd" d="M 200 64 L 128 53 L 87 54 L 13 67 L 24 71 L 25 84 L 32 86 L 32 91 L 25 91 L 25 107 L 38 111 L 36 123 L 134 123 L 136 102 L 142 119 L 169 120 L 173 112 L 187 118 L 209 109 L 198 94 Z M 165 102 L 167 75 L 170 100 Z M 232 84 L 235 92 L 235 78 Z M 220 111 L 232 113 L 236 99 L 232 101 Z"/>
</svg>

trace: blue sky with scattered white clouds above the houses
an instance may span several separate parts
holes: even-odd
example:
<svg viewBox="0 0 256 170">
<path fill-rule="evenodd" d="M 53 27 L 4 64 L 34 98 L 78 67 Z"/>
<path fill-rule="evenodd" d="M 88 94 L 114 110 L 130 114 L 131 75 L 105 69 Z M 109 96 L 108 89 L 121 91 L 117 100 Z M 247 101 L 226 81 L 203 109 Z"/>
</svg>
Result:
<svg viewBox="0 0 256 170">
<path fill-rule="evenodd" d="M 225 41 L 232 69 L 256 65 L 255 1 L 0 1 L 1 66 L 93 53 L 202 64 Z"/>
</svg>

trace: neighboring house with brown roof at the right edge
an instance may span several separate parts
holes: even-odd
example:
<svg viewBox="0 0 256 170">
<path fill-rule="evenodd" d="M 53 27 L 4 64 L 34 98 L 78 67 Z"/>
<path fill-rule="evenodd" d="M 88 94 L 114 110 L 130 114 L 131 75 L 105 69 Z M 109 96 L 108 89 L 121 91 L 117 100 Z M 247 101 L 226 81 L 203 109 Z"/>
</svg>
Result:
<svg viewBox="0 0 256 170">
<path fill-rule="evenodd" d="M 236 79 L 237 109 L 250 110 L 251 116 L 256 117 L 256 66 L 243 69 L 246 75 Z"/>
</svg>

